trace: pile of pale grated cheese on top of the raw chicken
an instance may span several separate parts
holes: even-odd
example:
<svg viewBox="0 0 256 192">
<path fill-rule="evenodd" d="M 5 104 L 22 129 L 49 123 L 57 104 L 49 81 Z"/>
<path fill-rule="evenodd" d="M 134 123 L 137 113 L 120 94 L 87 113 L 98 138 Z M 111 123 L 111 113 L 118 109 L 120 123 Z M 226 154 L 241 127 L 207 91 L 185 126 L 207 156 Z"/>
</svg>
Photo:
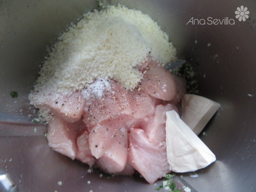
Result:
<svg viewBox="0 0 256 192">
<path fill-rule="evenodd" d="M 143 74 L 135 67 L 147 55 L 165 65 L 176 59 L 168 35 L 148 15 L 120 4 L 94 10 L 64 32 L 44 61 L 32 105 L 82 90 L 96 79 L 115 79 L 134 89 Z"/>
</svg>

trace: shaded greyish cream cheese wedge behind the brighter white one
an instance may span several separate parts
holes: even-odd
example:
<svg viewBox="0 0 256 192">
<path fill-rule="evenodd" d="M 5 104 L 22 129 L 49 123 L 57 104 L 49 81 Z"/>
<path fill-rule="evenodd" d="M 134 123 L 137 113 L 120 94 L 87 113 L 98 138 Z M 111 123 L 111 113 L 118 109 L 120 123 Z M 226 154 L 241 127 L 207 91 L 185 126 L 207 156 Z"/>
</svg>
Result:
<svg viewBox="0 0 256 192">
<path fill-rule="evenodd" d="M 181 119 L 198 135 L 216 113 L 220 104 L 202 96 L 184 94 L 181 107 Z"/>
</svg>

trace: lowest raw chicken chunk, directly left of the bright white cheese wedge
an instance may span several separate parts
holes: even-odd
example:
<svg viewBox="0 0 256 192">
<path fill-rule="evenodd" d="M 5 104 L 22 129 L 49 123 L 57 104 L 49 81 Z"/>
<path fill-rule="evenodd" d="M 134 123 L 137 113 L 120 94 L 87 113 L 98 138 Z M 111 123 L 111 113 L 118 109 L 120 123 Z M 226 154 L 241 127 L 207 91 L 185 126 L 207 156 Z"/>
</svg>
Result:
<svg viewBox="0 0 256 192">
<path fill-rule="evenodd" d="M 134 128 L 131 128 L 128 138 L 128 162 L 148 183 L 154 183 L 170 172 L 164 141 L 161 146 L 154 145 L 142 129 Z"/>
</svg>

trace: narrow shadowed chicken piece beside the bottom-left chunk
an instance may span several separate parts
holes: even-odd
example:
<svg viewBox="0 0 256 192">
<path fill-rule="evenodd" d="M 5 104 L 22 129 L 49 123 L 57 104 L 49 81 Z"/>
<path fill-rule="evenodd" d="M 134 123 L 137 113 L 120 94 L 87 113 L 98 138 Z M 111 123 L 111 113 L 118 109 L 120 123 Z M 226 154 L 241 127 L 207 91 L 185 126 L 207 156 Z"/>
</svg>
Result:
<svg viewBox="0 0 256 192">
<path fill-rule="evenodd" d="M 95 158 L 93 157 L 89 147 L 89 131 L 86 129 L 76 140 L 76 159 L 83 163 L 93 166 Z"/>
</svg>

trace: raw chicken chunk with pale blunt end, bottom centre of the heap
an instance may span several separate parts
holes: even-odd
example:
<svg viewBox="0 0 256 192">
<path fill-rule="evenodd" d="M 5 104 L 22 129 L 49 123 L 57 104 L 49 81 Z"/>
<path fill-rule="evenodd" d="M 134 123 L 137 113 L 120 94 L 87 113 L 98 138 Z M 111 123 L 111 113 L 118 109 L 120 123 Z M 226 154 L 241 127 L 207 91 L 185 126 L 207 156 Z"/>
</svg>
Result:
<svg viewBox="0 0 256 192">
<path fill-rule="evenodd" d="M 108 173 L 121 172 L 127 163 L 128 133 L 122 126 L 113 137 L 113 142 L 105 153 L 96 161 L 102 170 Z"/>
</svg>

